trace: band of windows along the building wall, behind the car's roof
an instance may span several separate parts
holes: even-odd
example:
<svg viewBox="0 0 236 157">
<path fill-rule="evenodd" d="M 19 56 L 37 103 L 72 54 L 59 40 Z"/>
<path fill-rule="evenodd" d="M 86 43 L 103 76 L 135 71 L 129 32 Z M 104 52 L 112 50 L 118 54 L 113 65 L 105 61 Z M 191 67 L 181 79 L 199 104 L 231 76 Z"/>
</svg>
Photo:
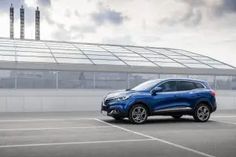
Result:
<svg viewBox="0 0 236 157">
<path fill-rule="evenodd" d="M 200 79 L 216 90 L 236 90 L 236 76 L 47 70 L 0 70 L 0 89 L 126 89 L 158 78 Z"/>
</svg>

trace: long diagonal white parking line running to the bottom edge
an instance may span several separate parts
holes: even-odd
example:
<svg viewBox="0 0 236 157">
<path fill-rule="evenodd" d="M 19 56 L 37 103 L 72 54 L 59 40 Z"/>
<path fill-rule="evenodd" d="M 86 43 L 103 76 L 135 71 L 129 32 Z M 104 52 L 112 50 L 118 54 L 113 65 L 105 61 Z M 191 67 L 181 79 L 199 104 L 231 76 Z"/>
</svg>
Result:
<svg viewBox="0 0 236 157">
<path fill-rule="evenodd" d="M 134 133 L 134 134 L 136 134 L 136 135 L 140 135 L 140 136 L 147 137 L 147 138 L 152 139 L 152 140 L 155 140 L 155 141 L 159 141 L 159 142 L 162 142 L 162 143 L 169 144 L 169 145 L 174 146 L 174 147 L 176 147 L 176 148 L 180 148 L 180 149 L 183 149 L 183 150 L 187 150 L 187 151 L 190 151 L 190 152 L 193 152 L 193 153 L 202 155 L 202 156 L 206 156 L 206 157 L 215 157 L 215 156 L 213 156 L 213 155 L 210 155 L 210 154 L 207 154 L 207 153 L 198 151 L 198 150 L 194 150 L 194 149 L 189 148 L 189 147 L 185 147 L 185 146 L 182 146 L 182 145 L 179 145 L 179 144 L 175 144 L 175 143 L 173 143 L 173 142 L 169 142 L 169 141 L 166 141 L 166 140 L 163 140 L 163 139 L 160 139 L 160 138 L 156 138 L 156 137 L 153 137 L 153 136 L 150 136 L 150 135 L 146 135 L 146 134 L 143 134 L 143 133 L 140 133 L 140 132 L 132 131 L 132 130 L 129 130 L 129 129 L 126 129 L 126 128 L 123 128 L 123 127 L 120 127 L 120 126 L 117 126 L 117 125 L 114 125 L 114 124 L 110 124 L 110 123 L 105 122 L 105 121 L 103 121 L 103 120 L 101 120 L 101 119 L 95 118 L 95 120 L 97 120 L 97 121 L 99 121 L 99 122 L 102 122 L 102 123 L 104 123 L 104 124 L 113 126 L 113 127 L 115 127 L 115 128 L 118 128 L 118 129 L 121 129 L 121 130 L 130 132 L 130 133 Z"/>
</svg>

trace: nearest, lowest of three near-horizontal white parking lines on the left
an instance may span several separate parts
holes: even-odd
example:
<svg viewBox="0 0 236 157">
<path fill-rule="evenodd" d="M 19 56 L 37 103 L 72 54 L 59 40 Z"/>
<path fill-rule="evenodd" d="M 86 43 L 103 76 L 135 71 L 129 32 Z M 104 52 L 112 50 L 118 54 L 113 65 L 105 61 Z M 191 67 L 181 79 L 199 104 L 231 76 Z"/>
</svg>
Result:
<svg viewBox="0 0 236 157">
<path fill-rule="evenodd" d="M 61 142 L 61 143 L 38 143 L 38 144 L 16 144 L 16 145 L 0 145 L 0 148 L 15 147 L 38 147 L 38 146 L 59 146 L 59 145 L 80 145 L 80 144 L 100 144 L 100 143 L 121 143 L 121 142 L 145 142 L 153 141 L 153 139 L 130 139 L 130 140 L 109 140 L 109 141 L 84 141 L 84 142 Z"/>
</svg>

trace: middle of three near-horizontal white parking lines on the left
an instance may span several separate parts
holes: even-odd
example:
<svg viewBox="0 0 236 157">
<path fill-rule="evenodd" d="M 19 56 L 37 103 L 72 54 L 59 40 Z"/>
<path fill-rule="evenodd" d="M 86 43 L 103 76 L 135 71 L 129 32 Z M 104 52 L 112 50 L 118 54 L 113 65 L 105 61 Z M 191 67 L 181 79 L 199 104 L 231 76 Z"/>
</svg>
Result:
<svg viewBox="0 0 236 157">
<path fill-rule="evenodd" d="M 78 127 L 55 127 L 55 128 L 15 128 L 15 129 L 0 129 L 1 131 L 41 131 L 41 130 L 66 130 L 66 129 L 99 129 L 109 128 L 111 126 L 78 126 Z"/>
</svg>

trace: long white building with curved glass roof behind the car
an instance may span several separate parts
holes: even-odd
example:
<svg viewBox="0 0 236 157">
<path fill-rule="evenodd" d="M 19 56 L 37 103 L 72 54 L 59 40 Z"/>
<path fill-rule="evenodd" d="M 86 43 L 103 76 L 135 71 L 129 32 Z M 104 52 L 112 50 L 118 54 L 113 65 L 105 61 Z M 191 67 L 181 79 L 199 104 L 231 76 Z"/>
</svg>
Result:
<svg viewBox="0 0 236 157">
<path fill-rule="evenodd" d="M 236 68 L 157 47 L 0 38 L 0 112 L 98 110 L 105 93 L 145 80 L 207 80 L 219 108 L 236 108 Z"/>
</svg>

